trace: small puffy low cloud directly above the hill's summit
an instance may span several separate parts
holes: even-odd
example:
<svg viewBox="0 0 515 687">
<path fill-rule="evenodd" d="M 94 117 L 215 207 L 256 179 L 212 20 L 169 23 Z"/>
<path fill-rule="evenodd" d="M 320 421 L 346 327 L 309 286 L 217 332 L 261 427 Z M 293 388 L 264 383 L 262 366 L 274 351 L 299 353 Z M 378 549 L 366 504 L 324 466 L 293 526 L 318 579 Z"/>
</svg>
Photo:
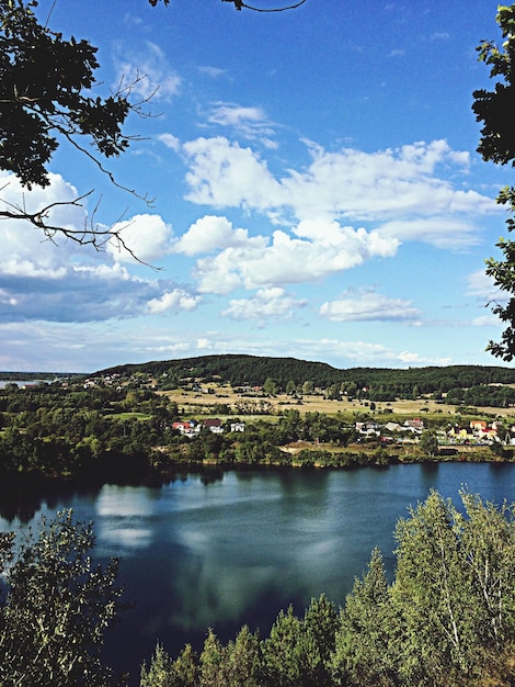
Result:
<svg viewBox="0 0 515 687">
<path fill-rule="evenodd" d="M 231 319 L 277 319 L 290 318 L 298 308 L 306 307 L 305 300 L 296 300 L 284 289 L 272 286 L 260 289 L 252 299 L 232 300 L 221 315 Z"/>
</svg>

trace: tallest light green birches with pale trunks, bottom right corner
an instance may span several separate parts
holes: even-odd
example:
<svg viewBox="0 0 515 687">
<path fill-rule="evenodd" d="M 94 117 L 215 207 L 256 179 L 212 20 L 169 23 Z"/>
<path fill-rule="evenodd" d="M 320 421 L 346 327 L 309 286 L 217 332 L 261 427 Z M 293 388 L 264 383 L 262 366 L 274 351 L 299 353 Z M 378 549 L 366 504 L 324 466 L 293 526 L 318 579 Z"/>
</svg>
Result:
<svg viewBox="0 0 515 687">
<path fill-rule="evenodd" d="M 515 639 L 513 508 L 461 499 L 465 515 L 432 492 L 396 529 L 391 596 L 405 684 L 485 677 Z"/>
</svg>

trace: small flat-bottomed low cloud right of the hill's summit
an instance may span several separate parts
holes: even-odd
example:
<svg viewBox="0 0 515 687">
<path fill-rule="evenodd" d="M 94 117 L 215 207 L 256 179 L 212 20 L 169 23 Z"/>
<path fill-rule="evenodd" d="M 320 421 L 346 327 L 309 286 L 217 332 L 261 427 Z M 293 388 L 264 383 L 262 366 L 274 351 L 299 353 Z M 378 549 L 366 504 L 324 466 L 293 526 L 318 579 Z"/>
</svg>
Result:
<svg viewBox="0 0 515 687">
<path fill-rule="evenodd" d="M 336 301 L 320 306 L 320 315 L 334 322 L 377 322 L 420 319 L 411 301 L 388 299 L 376 291 L 345 292 Z"/>
</svg>

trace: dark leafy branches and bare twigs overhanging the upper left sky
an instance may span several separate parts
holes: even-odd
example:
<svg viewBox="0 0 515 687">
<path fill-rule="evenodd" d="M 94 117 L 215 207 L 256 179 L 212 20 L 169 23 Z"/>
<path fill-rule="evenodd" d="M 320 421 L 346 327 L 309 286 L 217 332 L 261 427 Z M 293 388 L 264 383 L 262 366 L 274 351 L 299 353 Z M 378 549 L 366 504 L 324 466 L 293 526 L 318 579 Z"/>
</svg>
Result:
<svg viewBox="0 0 515 687">
<path fill-rule="evenodd" d="M 170 0 L 148 0 L 152 7 Z M 231 2 L 237 10 L 283 11 L 304 4 L 262 10 L 241 0 Z M 0 170 L 11 172 L 22 187 L 49 184 L 48 165 L 54 153 L 67 143 L 116 185 L 151 204 L 146 195 L 118 183 L 104 167 L 104 158 L 117 157 L 137 137 L 123 132 L 130 112 L 145 115 L 142 100 L 134 102 L 136 83 L 121 83 L 118 92 L 107 98 L 93 97 L 98 86 L 95 72 L 100 67 L 98 48 L 87 40 L 62 34 L 42 23 L 36 16 L 37 0 L 0 0 Z M 137 77 L 136 81 L 144 79 Z M 93 150 L 93 151 L 92 151 Z M 9 179 L 9 177 L 8 177 Z M 8 180 L 5 185 L 10 181 Z M 3 189 L 5 188 L 3 187 Z M 0 191 L 3 190 L 0 188 Z M 117 241 L 134 258 L 137 256 L 125 244 L 122 228 L 103 228 L 91 219 L 83 226 L 56 224 L 53 211 L 59 205 L 82 206 L 89 191 L 71 201 L 57 201 L 28 209 L 24 200 L 12 203 L 0 198 L 0 219 L 23 219 L 42 230 L 49 240 L 58 236 L 78 244 L 91 244 L 101 249 L 107 241 Z M 118 223 L 119 224 L 119 223 Z"/>
</svg>

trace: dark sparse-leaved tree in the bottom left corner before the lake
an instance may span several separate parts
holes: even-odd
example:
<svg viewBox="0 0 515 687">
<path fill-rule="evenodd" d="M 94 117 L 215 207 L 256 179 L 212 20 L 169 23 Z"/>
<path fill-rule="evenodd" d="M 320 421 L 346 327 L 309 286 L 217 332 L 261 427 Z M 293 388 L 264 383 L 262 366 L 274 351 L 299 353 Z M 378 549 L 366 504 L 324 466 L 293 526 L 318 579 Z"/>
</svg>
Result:
<svg viewBox="0 0 515 687">
<path fill-rule="evenodd" d="M 105 631 L 123 609 L 117 561 L 102 568 L 89 555 L 91 525 L 71 510 L 42 518 L 37 538 L 0 539 L 0 684 L 89 687 L 113 684 L 102 662 Z"/>
</svg>

